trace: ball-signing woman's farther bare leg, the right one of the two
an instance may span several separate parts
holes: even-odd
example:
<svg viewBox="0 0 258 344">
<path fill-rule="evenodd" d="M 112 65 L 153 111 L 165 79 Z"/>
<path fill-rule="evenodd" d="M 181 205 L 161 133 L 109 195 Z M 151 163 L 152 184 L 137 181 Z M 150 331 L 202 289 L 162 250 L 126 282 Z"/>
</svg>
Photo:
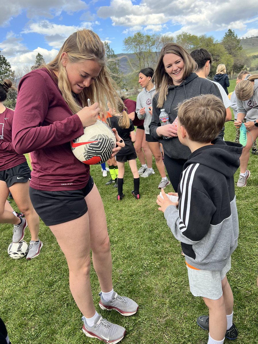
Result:
<svg viewBox="0 0 258 344">
<path fill-rule="evenodd" d="M 113 288 L 112 259 L 104 206 L 95 184 L 85 200 L 88 205 L 93 266 L 98 276 L 100 288 L 106 293 Z"/>
</svg>

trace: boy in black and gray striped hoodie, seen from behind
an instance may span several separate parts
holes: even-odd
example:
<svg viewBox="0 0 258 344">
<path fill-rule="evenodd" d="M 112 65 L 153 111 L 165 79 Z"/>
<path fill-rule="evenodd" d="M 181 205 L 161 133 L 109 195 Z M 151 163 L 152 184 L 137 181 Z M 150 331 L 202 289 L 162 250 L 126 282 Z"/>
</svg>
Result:
<svg viewBox="0 0 258 344">
<path fill-rule="evenodd" d="M 209 316 L 197 319 L 209 330 L 208 344 L 222 344 L 225 336 L 236 339 L 238 334 L 226 273 L 237 247 L 234 173 L 243 146 L 215 140 L 225 118 L 225 106 L 213 95 L 194 97 L 179 107 L 178 138 L 192 153 L 181 174 L 179 203 L 171 202 L 163 189 L 163 199 L 157 199 L 173 235 L 181 241 L 190 290 L 203 297 L 209 309 Z"/>
</svg>

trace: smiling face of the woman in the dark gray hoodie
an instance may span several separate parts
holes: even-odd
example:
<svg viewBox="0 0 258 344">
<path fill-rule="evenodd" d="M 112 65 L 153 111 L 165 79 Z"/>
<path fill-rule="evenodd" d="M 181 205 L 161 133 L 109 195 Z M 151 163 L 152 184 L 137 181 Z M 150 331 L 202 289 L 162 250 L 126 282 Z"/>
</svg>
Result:
<svg viewBox="0 0 258 344">
<path fill-rule="evenodd" d="M 184 60 L 176 54 L 165 54 L 163 57 L 165 72 L 172 78 L 174 85 L 180 85 L 183 81 Z"/>
</svg>

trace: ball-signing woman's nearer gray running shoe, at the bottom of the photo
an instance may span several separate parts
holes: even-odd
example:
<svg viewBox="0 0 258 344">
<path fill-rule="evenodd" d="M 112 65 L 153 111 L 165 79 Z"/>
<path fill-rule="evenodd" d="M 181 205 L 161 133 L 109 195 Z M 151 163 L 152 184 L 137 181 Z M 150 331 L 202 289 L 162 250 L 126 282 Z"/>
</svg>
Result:
<svg viewBox="0 0 258 344">
<path fill-rule="evenodd" d="M 116 344 L 123 339 L 126 329 L 122 326 L 112 324 L 107 319 L 103 319 L 99 314 L 92 327 L 87 325 L 83 316 L 83 332 L 87 337 L 97 338 L 105 343 Z"/>
</svg>

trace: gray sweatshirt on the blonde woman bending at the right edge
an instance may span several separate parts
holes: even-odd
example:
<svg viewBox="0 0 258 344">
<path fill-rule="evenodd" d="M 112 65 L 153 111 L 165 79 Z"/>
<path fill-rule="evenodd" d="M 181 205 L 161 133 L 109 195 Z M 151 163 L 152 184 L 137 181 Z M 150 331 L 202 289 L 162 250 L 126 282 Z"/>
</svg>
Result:
<svg viewBox="0 0 258 344">
<path fill-rule="evenodd" d="M 237 113 L 245 114 L 246 121 L 251 122 L 258 119 L 258 79 L 254 80 L 254 94 L 249 100 L 237 101 Z"/>
</svg>

